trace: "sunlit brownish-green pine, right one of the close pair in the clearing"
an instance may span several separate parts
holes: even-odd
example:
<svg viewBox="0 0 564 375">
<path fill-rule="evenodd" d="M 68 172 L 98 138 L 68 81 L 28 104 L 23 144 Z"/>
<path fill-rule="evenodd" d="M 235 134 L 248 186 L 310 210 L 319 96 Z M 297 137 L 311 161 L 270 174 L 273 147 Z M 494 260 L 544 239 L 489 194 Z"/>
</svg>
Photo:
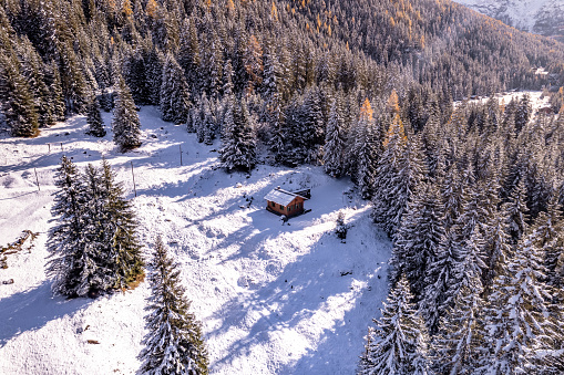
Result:
<svg viewBox="0 0 564 375">
<path fill-rule="evenodd" d="M 113 288 L 126 289 L 144 273 L 137 222 L 123 187 L 115 183 L 110 163 L 102 160 L 101 190 L 103 191 L 103 220 L 105 235 L 105 267 L 114 278 Z"/>
</svg>

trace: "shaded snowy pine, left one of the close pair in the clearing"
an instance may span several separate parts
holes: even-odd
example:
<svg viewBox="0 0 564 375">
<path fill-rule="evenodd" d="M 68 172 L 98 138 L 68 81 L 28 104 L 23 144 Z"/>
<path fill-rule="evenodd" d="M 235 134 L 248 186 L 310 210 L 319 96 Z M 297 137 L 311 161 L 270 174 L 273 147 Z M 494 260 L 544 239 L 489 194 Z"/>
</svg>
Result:
<svg viewBox="0 0 564 375">
<path fill-rule="evenodd" d="M 50 260 L 48 275 L 53 278 L 55 294 L 70 298 L 85 296 L 95 292 L 103 283 L 98 267 L 99 249 L 88 240 L 86 197 L 84 184 L 76 166 L 63 156 L 57 173 L 52 215 L 57 225 L 49 230 L 48 251 Z"/>
</svg>

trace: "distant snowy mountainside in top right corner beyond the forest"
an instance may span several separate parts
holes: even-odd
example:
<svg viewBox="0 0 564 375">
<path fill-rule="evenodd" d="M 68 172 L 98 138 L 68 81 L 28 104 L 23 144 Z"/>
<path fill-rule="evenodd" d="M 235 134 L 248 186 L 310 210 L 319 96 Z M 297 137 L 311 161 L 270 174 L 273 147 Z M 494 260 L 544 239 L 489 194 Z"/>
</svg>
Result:
<svg viewBox="0 0 564 375">
<path fill-rule="evenodd" d="M 564 0 L 457 0 L 517 29 L 554 35 L 564 28 Z"/>
</svg>

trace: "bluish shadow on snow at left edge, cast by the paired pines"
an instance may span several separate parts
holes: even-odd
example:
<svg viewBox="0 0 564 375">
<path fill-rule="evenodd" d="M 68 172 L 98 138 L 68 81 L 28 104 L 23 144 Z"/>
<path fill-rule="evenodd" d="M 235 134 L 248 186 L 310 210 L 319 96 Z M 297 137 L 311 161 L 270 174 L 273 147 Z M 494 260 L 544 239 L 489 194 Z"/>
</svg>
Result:
<svg viewBox="0 0 564 375">
<path fill-rule="evenodd" d="M 92 300 L 65 300 L 53 296 L 51 281 L 0 300 L 0 347 L 27 331 L 35 331 L 47 323 L 72 315 L 86 308 Z"/>
</svg>

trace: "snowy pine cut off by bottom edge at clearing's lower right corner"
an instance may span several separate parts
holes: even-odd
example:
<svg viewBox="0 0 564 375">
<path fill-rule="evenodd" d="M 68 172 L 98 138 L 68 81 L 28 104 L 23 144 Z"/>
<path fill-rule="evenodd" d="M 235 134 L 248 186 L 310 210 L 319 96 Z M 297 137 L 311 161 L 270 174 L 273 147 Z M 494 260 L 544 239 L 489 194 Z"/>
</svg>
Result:
<svg viewBox="0 0 564 375">
<path fill-rule="evenodd" d="M 358 375 L 430 374 L 424 322 L 404 277 L 390 290 L 382 316 L 370 327 Z"/>
</svg>

